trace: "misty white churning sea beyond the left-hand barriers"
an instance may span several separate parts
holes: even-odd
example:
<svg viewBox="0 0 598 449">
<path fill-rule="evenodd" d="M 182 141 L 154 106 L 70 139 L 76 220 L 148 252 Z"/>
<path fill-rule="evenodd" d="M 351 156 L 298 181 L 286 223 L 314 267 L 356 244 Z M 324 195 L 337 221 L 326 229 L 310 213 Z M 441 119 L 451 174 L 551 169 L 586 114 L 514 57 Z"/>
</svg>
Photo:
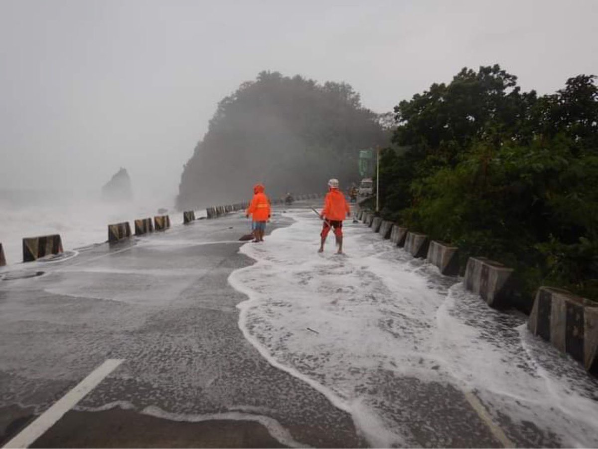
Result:
<svg viewBox="0 0 598 449">
<path fill-rule="evenodd" d="M 111 223 L 129 221 L 133 230 L 133 220 L 153 217 L 158 208 L 174 213 L 174 205 L 175 195 L 166 193 L 106 202 L 85 190 L 0 189 L 0 243 L 7 265 L 14 265 L 23 260 L 23 237 L 59 233 L 64 249 L 73 250 L 105 242 Z"/>
</svg>

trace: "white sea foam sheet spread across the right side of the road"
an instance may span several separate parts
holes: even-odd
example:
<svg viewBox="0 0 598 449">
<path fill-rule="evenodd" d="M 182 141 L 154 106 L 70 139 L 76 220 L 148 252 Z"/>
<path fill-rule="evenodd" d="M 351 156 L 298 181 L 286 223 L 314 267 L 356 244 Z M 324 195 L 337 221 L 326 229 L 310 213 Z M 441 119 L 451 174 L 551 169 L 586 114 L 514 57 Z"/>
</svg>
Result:
<svg viewBox="0 0 598 449">
<path fill-rule="evenodd" d="M 257 261 L 229 278 L 249 296 L 237 306 L 240 329 L 272 365 L 350 412 L 370 444 L 410 442 L 384 411 L 389 399 L 363 388 L 383 369 L 475 391 L 497 421 L 507 415 L 565 445 L 598 445 L 596 381 L 529 336 L 524 317 L 491 310 L 362 225 L 344 225 L 347 256 L 330 243 L 318 255 L 318 219 L 288 216 L 293 225 L 240 248 Z"/>
</svg>

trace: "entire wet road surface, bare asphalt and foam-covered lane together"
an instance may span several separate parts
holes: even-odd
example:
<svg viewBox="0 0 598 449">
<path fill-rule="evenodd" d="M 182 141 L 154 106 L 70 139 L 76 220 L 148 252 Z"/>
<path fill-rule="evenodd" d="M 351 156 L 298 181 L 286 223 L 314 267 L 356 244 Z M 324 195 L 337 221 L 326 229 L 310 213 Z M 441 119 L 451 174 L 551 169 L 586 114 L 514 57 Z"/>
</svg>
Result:
<svg viewBox="0 0 598 449">
<path fill-rule="evenodd" d="M 118 359 L 32 447 L 563 445 L 525 418 L 547 416 L 541 407 L 550 398 L 530 407 L 517 389 L 501 390 L 505 379 L 527 382 L 542 371 L 484 380 L 509 360 L 529 362 L 521 354 L 524 317 L 489 310 L 455 278 L 350 220 L 354 254 L 316 256 L 319 222 L 309 205 L 274 210 L 268 230 L 284 227 L 285 236 L 246 247 L 261 260 L 255 265 L 239 252 L 248 220 L 232 213 L 2 269 L 0 444 L 105 360 Z M 255 304 L 247 305 L 245 289 Z M 302 315 L 310 300 L 316 308 Z M 477 336 L 469 338 L 472 330 Z M 548 345 L 526 344 L 544 359 L 538 365 L 558 360 Z M 583 377 L 575 364 L 562 365 L 563 377 Z M 593 385 L 582 380 L 575 388 Z"/>
</svg>

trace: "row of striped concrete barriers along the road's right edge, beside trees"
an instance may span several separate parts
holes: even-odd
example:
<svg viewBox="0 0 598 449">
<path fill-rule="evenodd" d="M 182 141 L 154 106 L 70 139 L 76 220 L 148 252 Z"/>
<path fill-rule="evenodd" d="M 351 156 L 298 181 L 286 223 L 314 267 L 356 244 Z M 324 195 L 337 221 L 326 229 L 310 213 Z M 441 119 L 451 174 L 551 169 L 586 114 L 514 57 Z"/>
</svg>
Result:
<svg viewBox="0 0 598 449">
<path fill-rule="evenodd" d="M 444 275 L 459 274 L 459 248 L 428 236 L 410 232 L 397 223 L 382 220 L 373 212 L 359 210 L 357 219 L 390 239 L 413 257 L 426 257 Z M 486 257 L 469 257 L 465 267 L 465 288 L 493 308 L 504 308 L 514 294 L 513 269 Z M 550 341 L 560 351 L 581 362 L 586 371 L 598 376 L 598 304 L 567 290 L 540 287 L 536 293 L 527 327 L 534 335 Z"/>
</svg>

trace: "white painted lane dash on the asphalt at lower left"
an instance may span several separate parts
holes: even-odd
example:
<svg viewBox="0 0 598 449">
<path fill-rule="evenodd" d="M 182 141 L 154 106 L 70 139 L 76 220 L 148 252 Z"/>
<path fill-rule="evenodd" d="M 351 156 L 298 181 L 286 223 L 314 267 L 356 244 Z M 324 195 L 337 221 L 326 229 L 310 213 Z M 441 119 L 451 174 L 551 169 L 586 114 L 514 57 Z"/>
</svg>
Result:
<svg viewBox="0 0 598 449">
<path fill-rule="evenodd" d="M 56 404 L 48 408 L 19 435 L 11 439 L 4 448 L 25 448 L 33 444 L 44 432 L 52 427 L 63 415 L 93 390 L 104 378 L 114 371 L 124 359 L 108 359 L 84 378 L 74 389 L 62 396 Z"/>
</svg>

